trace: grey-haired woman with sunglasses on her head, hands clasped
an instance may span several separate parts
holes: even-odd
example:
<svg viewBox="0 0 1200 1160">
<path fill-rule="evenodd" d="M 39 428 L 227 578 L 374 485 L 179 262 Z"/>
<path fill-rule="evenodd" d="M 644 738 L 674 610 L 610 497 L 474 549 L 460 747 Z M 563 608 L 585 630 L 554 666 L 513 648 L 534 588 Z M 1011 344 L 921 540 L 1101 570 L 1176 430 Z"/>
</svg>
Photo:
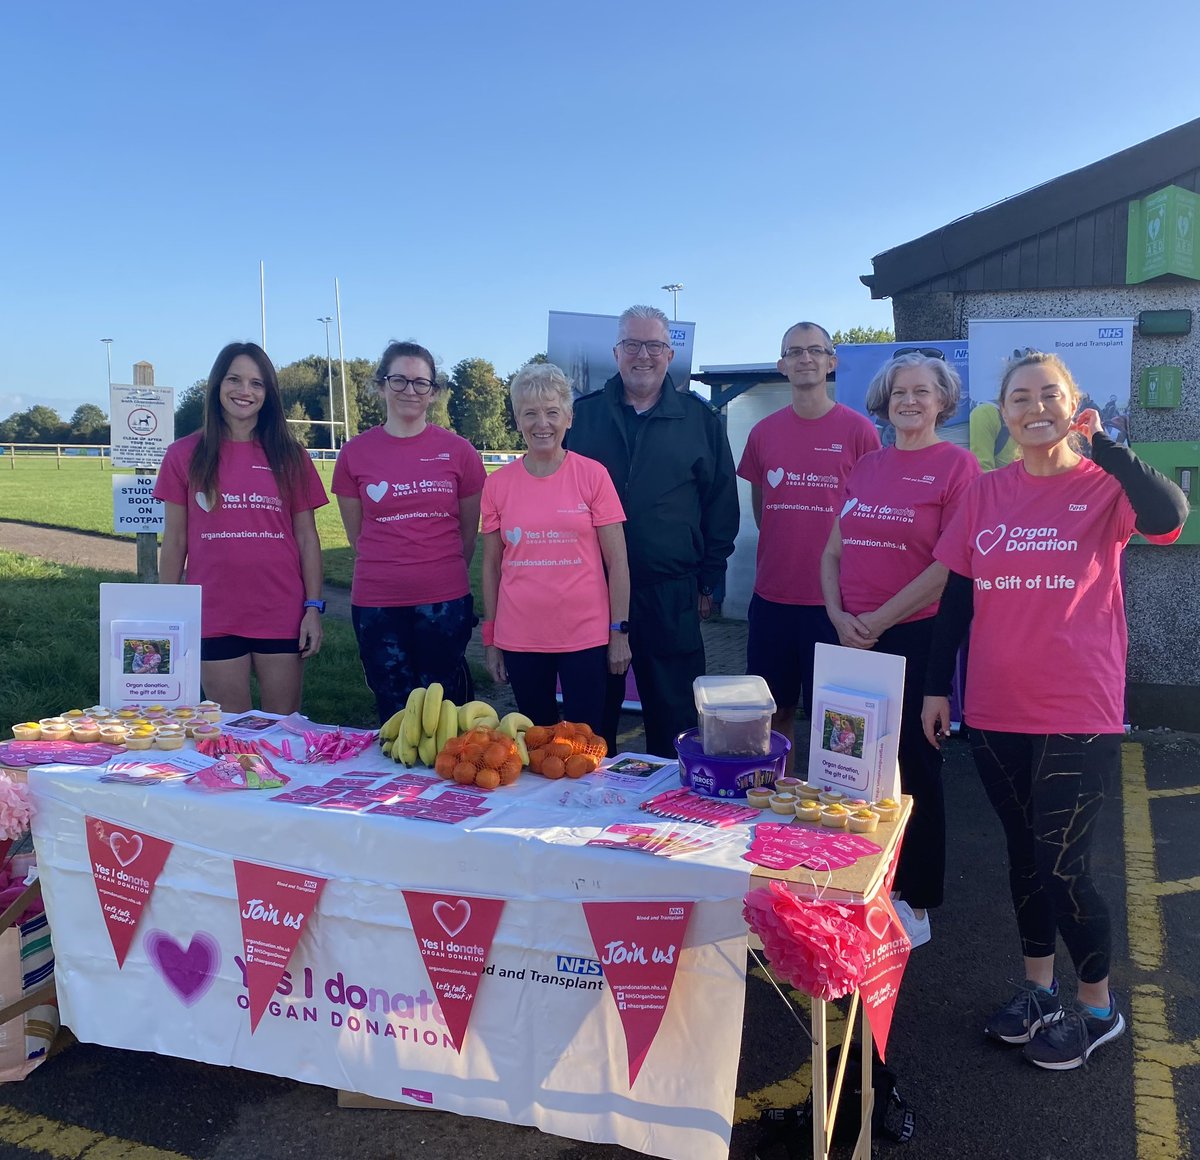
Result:
<svg viewBox="0 0 1200 1160">
<path fill-rule="evenodd" d="M 941 351 L 898 351 L 880 369 L 866 391 L 866 409 L 892 425 L 895 440 L 851 468 L 841 515 L 821 558 L 826 611 L 839 642 L 906 662 L 900 786 L 912 795 L 913 812 L 895 892 L 896 913 L 913 946 L 929 942 L 928 912 L 942 904 L 946 879 L 942 755 L 925 740 L 920 710 L 934 615 L 946 583 L 934 546 L 979 475 L 974 456 L 937 433 L 958 409 L 961 389 Z"/>
</svg>

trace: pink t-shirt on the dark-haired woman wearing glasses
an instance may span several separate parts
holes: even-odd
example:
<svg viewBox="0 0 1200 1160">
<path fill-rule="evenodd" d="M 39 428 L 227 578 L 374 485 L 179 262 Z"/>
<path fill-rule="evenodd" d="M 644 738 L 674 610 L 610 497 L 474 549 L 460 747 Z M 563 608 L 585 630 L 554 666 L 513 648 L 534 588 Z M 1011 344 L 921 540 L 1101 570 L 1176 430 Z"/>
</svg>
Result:
<svg viewBox="0 0 1200 1160">
<path fill-rule="evenodd" d="M 484 463 L 461 435 L 433 423 L 401 439 L 383 427 L 337 453 L 334 494 L 362 504 L 350 601 L 397 608 L 470 591 L 458 501 L 484 487 Z"/>
</svg>

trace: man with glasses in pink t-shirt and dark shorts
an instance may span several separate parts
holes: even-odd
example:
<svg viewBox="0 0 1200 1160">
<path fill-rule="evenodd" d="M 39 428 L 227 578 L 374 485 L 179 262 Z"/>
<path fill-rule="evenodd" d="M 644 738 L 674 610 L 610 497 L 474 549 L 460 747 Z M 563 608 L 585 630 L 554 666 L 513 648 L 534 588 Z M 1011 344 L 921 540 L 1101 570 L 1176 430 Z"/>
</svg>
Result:
<svg viewBox="0 0 1200 1160">
<path fill-rule="evenodd" d="M 865 415 L 829 397 L 826 379 L 838 359 L 823 326 L 797 323 L 781 350 L 792 402 L 755 425 L 738 475 L 750 485 L 758 527 L 746 672 L 766 679 L 776 707 L 772 727 L 792 739 L 802 695 L 812 713 L 816 645 L 838 643 L 821 591 L 821 553 L 850 469 L 878 450 L 880 437 Z"/>
</svg>

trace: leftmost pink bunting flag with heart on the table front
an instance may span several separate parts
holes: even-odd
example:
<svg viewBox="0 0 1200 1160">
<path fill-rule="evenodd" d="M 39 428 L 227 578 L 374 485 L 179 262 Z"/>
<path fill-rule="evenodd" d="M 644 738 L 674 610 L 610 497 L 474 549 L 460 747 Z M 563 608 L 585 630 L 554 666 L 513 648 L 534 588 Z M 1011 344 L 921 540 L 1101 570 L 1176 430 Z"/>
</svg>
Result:
<svg viewBox="0 0 1200 1160">
<path fill-rule="evenodd" d="M 124 967 L 133 932 L 173 843 L 127 825 L 113 825 L 102 818 L 86 817 L 84 831 L 100 913 L 108 927 L 116 966 Z"/>
</svg>

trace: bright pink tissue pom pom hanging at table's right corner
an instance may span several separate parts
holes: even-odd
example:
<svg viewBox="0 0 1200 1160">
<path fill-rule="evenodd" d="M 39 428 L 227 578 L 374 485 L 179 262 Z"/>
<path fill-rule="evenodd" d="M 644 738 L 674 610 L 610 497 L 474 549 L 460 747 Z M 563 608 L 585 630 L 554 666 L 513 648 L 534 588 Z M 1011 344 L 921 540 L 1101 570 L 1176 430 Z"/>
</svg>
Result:
<svg viewBox="0 0 1200 1160">
<path fill-rule="evenodd" d="M 798 898 L 781 882 L 746 894 L 742 914 L 762 939 L 767 961 L 816 999 L 850 994 L 866 972 L 862 930 L 833 902 Z"/>
</svg>

